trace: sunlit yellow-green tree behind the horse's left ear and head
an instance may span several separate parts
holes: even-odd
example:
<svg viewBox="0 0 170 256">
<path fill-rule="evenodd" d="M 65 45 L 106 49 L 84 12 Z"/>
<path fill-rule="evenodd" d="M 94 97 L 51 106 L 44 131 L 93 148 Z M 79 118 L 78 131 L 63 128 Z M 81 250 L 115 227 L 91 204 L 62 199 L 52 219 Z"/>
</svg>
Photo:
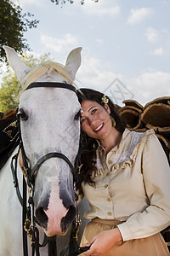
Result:
<svg viewBox="0 0 170 256">
<path fill-rule="evenodd" d="M 31 53 L 24 53 L 20 58 L 26 63 L 26 66 L 28 67 L 35 67 L 42 61 L 52 60 L 49 57 L 49 54 L 41 55 L 37 59 L 37 57 Z M 17 80 L 17 77 L 12 68 L 8 68 L 6 74 L 3 75 L 3 81 L 0 88 L 0 112 L 4 113 L 8 109 L 16 109 L 18 107 L 19 90 L 20 82 Z"/>
</svg>

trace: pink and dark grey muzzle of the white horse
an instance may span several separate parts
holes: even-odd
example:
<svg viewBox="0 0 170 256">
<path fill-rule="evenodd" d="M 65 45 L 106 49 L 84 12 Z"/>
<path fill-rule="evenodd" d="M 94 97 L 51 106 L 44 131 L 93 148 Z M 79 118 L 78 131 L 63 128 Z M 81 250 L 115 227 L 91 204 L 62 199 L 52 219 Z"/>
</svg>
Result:
<svg viewBox="0 0 170 256">
<path fill-rule="evenodd" d="M 65 192 L 61 197 L 58 189 L 52 185 L 50 196 L 43 197 L 37 207 L 35 215 L 47 236 L 65 235 L 76 216 L 75 201 Z"/>
</svg>

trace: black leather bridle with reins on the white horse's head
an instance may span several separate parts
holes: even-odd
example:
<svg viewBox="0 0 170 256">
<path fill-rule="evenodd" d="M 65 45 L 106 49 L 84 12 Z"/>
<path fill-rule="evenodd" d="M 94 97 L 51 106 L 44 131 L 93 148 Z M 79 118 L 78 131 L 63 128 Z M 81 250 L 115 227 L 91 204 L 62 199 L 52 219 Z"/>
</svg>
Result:
<svg viewBox="0 0 170 256">
<path fill-rule="evenodd" d="M 46 82 L 37 82 L 30 84 L 26 90 L 30 90 L 32 88 L 39 88 L 39 87 L 48 87 L 48 88 L 64 88 L 67 90 L 72 90 L 77 94 L 76 88 L 71 84 L 64 84 L 64 83 L 46 83 Z M 77 201 L 77 193 L 76 193 L 76 181 L 77 181 L 77 166 L 79 165 L 78 160 L 79 157 L 77 157 L 76 161 L 76 167 L 74 167 L 71 163 L 71 161 L 65 156 L 65 154 L 62 154 L 60 152 L 50 152 L 48 154 L 43 155 L 39 160 L 37 160 L 37 163 L 31 168 L 29 165 L 29 161 L 26 157 L 26 152 L 22 143 L 22 137 L 21 137 L 21 131 L 20 131 L 20 113 L 17 113 L 17 122 L 18 122 L 18 130 L 19 130 L 19 140 L 20 140 L 20 151 L 21 151 L 21 157 L 23 161 L 23 165 L 21 166 L 22 172 L 24 174 L 23 176 L 23 198 L 20 195 L 20 189 L 18 188 L 18 180 L 17 180 L 17 159 L 19 156 L 19 152 L 14 155 L 12 162 L 11 162 L 11 169 L 13 172 L 14 177 L 14 186 L 17 190 L 17 195 L 19 197 L 20 203 L 23 206 L 23 252 L 24 256 L 28 255 L 28 248 L 27 248 L 27 235 L 31 237 L 31 247 L 32 247 L 32 256 L 36 253 L 37 256 L 39 256 L 39 247 L 45 246 L 48 242 L 47 237 L 42 242 L 42 245 L 39 244 L 39 234 L 38 229 L 35 225 L 35 217 L 34 217 L 34 203 L 33 203 L 33 195 L 34 195 L 34 184 L 35 184 L 35 176 L 37 174 L 38 168 L 44 163 L 46 160 L 50 158 L 60 158 L 62 160 L 65 160 L 68 166 L 70 166 L 71 173 L 73 175 L 73 188 L 75 191 L 75 204 Z M 14 163 L 15 161 L 15 163 Z M 26 179 L 25 179 L 26 177 Z M 26 194 L 27 194 L 27 186 L 30 191 L 30 196 L 28 200 L 29 207 L 26 206 Z M 77 212 L 77 211 L 76 211 Z M 73 236 L 77 237 L 78 232 L 78 226 L 81 223 L 79 219 L 78 212 L 76 214 L 76 218 L 73 224 L 74 227 L 74 234 Z M 76 244 L 77 245 L 77 244 Z M 77 246 L 77 252 L 82 253 L 85 250 L 88 250 L 88 247 L 78 247 Z M 64 255 L 64 254 L 63 254 Z M 77 255 L 75 253 L 74 255 Z"/>
</svg>

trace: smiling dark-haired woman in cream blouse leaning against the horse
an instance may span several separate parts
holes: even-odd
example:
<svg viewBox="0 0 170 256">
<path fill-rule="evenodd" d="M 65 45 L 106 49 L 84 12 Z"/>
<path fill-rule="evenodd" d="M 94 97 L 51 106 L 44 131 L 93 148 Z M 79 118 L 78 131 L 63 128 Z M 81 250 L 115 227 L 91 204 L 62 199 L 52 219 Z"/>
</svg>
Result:
<svg viewBox="0 0 170 256">
<path fill-rule="evenodd" d="M 160 231 L 170 224 L 170 170 L 154 131 L 128 131 L 99 91 L 81 89 L 78 98 L 86 150 L 77 189 L 91 207 L 84 255 L 169 255 Z"/>
</svg>

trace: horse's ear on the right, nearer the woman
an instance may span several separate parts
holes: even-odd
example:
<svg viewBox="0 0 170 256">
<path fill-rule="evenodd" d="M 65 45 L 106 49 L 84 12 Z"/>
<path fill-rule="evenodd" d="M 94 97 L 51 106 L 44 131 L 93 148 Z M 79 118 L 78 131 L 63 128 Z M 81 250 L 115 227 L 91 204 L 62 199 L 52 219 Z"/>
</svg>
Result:
<svg viewBox="0 0 170 256">
<path fill-rule="evenodd" d="M 81 50 L 82 47 L 71 50 L 65 63 L 65 71 L 70 75 L 72 80 L 75 79 L 78 67 L 81 64 Z"/>
</svg>

